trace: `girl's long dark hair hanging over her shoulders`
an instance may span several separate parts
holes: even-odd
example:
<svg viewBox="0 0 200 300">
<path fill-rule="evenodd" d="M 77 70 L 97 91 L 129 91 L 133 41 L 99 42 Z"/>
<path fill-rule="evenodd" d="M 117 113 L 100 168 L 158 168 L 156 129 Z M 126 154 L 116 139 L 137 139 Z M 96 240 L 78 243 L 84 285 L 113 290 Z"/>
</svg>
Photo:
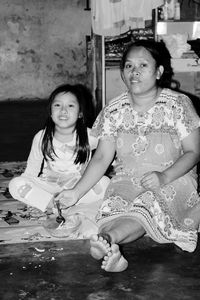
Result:
<svg viewBox="0 0 200 300">
<path fill-rule="evenodd" d="M 58 86 L 49 96 L 48 100 L 48 117 L 45 123 L 44 136 L 42 139 L 42 153 L 44 159 L 50 158 L 53 160 L 53 155 L 55 154 L 53 148 L 53 136 L 55 131 L 55 124 L 51 118 L 51 107 L 55 97 L 60 93 L 71 93 L 73 94 L 79 104 L 79 114 L 80 117 L 76 122 L 76 146 L 74 153 L 77 153 L 74 163 L 84 163 L 88 160 L 90 155 L 90 147 L 88 141 L 87 127 L 91 127 L 94 121 L 94 116 L 92 117 L 92 96 L 88 88 L 81 84 L 70 85 L 63 84 Z M 88 109 L 90 107 L 90 109 Z M 89 113 L 88 113 L 89 112 Z"/>
</svg>

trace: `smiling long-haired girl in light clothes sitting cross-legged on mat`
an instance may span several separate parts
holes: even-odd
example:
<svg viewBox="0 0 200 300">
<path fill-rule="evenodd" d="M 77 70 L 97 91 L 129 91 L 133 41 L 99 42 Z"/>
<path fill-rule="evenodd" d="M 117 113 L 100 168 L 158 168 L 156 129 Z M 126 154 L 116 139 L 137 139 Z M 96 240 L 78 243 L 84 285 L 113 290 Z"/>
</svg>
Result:
<svg viewBox="0 0 200 300">
<path fill-rule="evenodd" d="M 9 183 L 13 198 L 45 212 L 53 206 L 55 195 L 73 188 L 80 179 L 97 146 L 87 127 L 90 99 L 83 88 L 65 84 L 51 93 L 46 125 L 33 139 L 26 169 Z M 90 218 L 95 216 L 108 183 L 109 178 L 104 176 L 80 199 L 80 210 Z M 77 212 L 79 208 L 72 210 Z"/>
</svg>

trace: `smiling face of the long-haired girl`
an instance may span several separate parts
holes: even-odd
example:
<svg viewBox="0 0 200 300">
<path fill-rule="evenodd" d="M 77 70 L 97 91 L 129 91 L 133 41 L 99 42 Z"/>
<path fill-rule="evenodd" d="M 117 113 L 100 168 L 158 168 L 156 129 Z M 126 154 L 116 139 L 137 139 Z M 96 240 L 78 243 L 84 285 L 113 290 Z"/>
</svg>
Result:
<svg viewBox="0 0 200 300">
<path fill-rule="evenodd" d="M 79 103 L 72 93 L 58 94 L 51 105 L 51 117 L 55 123 L 55 129 L 72 129 L 76 127 L 80 115 Z"/>
</svg>

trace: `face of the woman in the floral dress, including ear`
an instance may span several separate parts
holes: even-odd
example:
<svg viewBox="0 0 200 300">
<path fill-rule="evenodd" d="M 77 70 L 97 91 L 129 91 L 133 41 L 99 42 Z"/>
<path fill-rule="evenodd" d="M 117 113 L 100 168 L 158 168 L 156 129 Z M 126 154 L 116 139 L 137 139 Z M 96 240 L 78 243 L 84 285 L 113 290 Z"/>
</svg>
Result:
<svg viewBox="0 0 200 300">
<path fill-rule="evenodd" d="M 123 79 L 133 95 L 148 94 L 156 88 L 156 80 L 163 73 L 163 66 L 156 68 L 156 61 L 144 47 L 135 47 L 126 57 Z"/>
</svg>

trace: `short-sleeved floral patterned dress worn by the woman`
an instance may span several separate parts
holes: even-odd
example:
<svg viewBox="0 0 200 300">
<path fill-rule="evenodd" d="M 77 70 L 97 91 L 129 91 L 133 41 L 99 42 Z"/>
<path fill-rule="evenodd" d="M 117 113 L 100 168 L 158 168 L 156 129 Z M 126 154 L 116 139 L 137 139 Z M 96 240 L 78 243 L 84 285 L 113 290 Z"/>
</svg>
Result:
<svg viewBox="0 0 200 300">
<path fill-rule="evenodd" d="M 96 216 L 99 226 L 117 217 L 132 217 L 159 243 L 175 243 L 192 252 L 197 244 L 200 197 L 196 168 L 156 192 L 141 178 L 162 172 L 181 155 L 181 140 L 200 126 L 191 100 L 163 89 L 148 111 L 139 113 L 128 94 L 113 99 L 97 117 L 93 134 L 116 145 L 116 172 Z"/>
</svg>

